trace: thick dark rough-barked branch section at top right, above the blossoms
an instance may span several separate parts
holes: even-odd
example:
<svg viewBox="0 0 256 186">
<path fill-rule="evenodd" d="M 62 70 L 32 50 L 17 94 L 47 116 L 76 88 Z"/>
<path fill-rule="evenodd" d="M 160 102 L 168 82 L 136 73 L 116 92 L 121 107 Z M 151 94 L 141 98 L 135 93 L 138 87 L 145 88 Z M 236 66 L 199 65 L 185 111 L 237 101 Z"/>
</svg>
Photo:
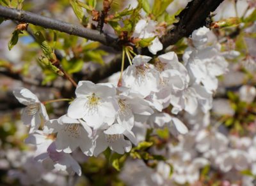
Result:
<svg viewBox="0 0 256 186">
<path fill-rule="evenodd" d="M 188 37 L 195 29 L 206 24 L 205 20 L 210 13 L 224 0 L 193 0 L 188 3 L 186 8 L 178 15 L 179 22 L 171 29 L 168 34 L 160 40 L 164 49 L 170 45 L 174 45 L 183 37 Z"/>
</svg>

